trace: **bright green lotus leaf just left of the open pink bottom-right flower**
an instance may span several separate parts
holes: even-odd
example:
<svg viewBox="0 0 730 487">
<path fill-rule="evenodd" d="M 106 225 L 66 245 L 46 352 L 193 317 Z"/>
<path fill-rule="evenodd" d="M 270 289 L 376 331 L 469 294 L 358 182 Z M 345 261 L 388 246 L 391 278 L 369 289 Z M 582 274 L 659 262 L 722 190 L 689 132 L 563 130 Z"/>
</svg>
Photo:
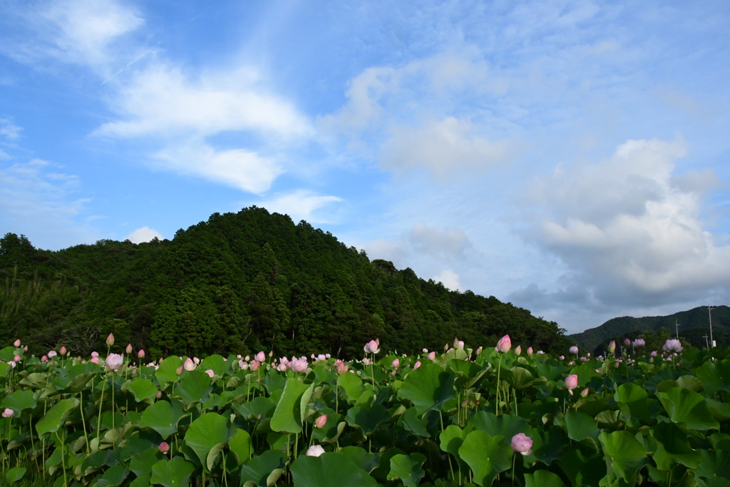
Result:
<svg viewBox="0 0 730 487">
<path fill-rule="evenodd" d="M 493 437 L 479 429 L 466 435 L 458 454 L 474 472 L 474 481 L 489 486 L 499 472 L 512 467 L 510 444 L 501 435 Z"/>
</svg>

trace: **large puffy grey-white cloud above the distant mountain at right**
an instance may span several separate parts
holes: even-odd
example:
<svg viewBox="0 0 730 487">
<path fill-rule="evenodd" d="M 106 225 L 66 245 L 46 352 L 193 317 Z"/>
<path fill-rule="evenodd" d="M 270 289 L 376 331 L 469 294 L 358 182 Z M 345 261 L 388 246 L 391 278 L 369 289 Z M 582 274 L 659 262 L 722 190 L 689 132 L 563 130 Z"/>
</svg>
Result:
<svg viewBox="0 0 730 487">
<path fill-rule="evenodd" d="M 681 139 L 629 140 L 601 164 L 558 168 L 529 188 L 544 208 L 529 238 L 568 267 L 562 293 L 661 304 L 730 282 L 730 246 L 703 228 L 712 175 L 672 174 L 685 153 Z"/>
</svg>

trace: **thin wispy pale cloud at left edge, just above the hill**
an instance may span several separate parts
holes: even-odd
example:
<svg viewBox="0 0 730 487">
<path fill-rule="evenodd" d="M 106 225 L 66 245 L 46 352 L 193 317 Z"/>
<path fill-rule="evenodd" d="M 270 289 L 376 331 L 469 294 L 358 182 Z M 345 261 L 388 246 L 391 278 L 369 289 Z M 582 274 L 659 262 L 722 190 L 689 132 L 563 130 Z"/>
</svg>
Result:
<svg viewBox="0 0 730 487">
<path fill-rule="evenodd" d="M 33 159 L 0 168 L 0 227 L 26 234 L 38 248 L 94 242 L 95 231 L 77 223 L 88 199 L 74 198 L 79 180 L 48 161 Z"/>
</svg>

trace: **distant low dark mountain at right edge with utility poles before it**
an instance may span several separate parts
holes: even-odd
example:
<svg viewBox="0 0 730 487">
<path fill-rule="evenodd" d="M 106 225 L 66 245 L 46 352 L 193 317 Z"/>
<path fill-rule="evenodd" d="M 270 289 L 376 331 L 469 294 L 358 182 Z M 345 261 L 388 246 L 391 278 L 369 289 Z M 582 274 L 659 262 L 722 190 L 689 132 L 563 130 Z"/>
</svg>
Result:
<svg viewBox="0 0 730 487">
<path fill-rule="evenodd" d="M 675 326 L 677 324 L 678 327 Z M 568 338 L 585 350 L 595 353 L 603 353 L 611 340 L 634 340 L 639 337 L 648 338 L 651 341 L 648 346 L 656 350 L 656 345 L 661 347 L 666 338 L 676 337 L 677 330 L 680 339 L 695 347 L 704 348 L 709 342 L 710 334 L 710 312 L 707 306 L 668 316 L 612 318 L 601 326 L 569 335 Z M 706 334 L 707 339 L 704 337 Z M 718 345 L 730 345 L 730 307 L 712 307 L 712 337 Z"/>
</svg>

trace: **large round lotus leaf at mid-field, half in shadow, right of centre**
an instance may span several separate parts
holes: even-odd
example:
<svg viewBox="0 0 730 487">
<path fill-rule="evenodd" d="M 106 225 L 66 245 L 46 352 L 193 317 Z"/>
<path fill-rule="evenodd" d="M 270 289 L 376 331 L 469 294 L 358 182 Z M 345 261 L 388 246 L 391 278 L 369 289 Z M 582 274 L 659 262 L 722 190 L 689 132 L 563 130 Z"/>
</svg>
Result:
<svg viewBox="0 0 730 487">
<path fill-rule="evenodd" d="M 456 398 L 454 372 L 437 364 L 424 364 L 410 372 L 398 390 L 398 397 L 413 403 L 419 415 L 439 408 Z"/>
</svg>

